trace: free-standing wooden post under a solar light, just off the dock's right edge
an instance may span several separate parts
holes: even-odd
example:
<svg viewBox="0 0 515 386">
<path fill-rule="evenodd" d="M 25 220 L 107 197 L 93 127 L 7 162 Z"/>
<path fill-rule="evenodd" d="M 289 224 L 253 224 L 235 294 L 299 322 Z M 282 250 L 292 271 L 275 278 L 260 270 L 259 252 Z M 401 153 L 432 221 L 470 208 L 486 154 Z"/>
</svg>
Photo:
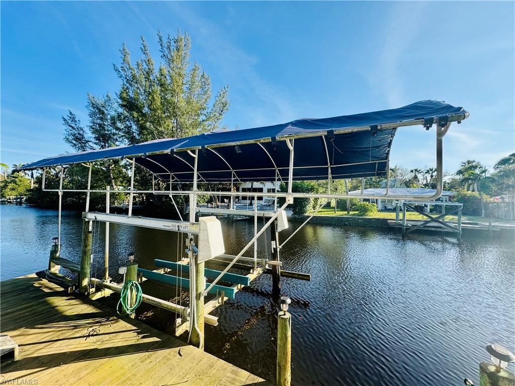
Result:
<svg viewBox="0 0 515 386">
<path fill-rule="evenodd" d="M 277 321 L 277 386 L 291 384 L 291 314 L 280 311 Z"/>
</svg>

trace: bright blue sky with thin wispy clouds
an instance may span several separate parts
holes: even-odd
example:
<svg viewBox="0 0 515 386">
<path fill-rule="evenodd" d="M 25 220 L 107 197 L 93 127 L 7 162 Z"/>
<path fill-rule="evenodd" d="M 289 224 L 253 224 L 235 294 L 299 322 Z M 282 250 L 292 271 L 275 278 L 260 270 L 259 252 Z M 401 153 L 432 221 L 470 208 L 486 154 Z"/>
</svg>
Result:
<svg viewBox="0 0 515 386">
<path fill-rule="evenodd" d="M 140 36 L 192 38 L 192 59 L 229 84 L 229 127 L 400 107 L 465 107 L 444 168 L 492 166 L 514 151 L 513 2 L 2 2 L 1 146 L 9 165 L 72 149 L 61 116 L 87 123 L 86 94 L 114 94 L 112 69 Z M 399 129 L 391 164 L 434 165 L 434 131 Z"/>
</svg>

